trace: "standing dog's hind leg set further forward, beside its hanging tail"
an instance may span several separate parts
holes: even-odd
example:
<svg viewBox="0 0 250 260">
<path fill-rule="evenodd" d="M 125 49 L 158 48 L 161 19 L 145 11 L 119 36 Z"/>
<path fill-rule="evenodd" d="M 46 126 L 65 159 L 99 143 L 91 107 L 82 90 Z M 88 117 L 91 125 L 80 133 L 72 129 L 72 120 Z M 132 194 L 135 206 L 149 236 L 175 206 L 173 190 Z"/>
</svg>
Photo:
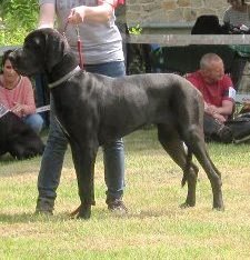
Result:
<svg viewBox="0 0 250 260">
<path fill-rule="evenodd" d="M 184 184 L 186 180 L 188 181 L 187 199 L 181 207 L 193 207 L 196 204 L 198 167 L 191 162 L 191 156 L 188 159 L 183 142 L 173 127 L 158 124 L 158 139 L 173 161 L 182 169 L 182 184 Z"/>
</svg>

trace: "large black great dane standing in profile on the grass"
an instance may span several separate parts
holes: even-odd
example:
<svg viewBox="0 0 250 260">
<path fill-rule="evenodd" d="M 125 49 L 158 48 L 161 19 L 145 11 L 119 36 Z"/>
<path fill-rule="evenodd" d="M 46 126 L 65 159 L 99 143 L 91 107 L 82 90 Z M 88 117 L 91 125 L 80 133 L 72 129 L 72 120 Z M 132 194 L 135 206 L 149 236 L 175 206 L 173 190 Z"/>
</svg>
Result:
<svg viewBox="0 0 250 260">
<path fill-rule="evenodd" d="M 22 74 L 44 72 L 56 103 L 57 118 L 72 149 L 81 204 L 78 217 L 88 219 L 94 202 L 93 170 L 99 146 L 154 123 L 163 149 L 183 170 L 188 182 L 183 207 L 196 204 L 196 156 L 211 182 L 213 208 L 223 209 L 221 176 L 206 149 L 203 100 L 186 79 L 176 74 L 109 78 L 78 67 L 63 36 L 39 29 L 10 57 Z M 188 152 L 183 148 L 188 147 Z"/>
</svg>

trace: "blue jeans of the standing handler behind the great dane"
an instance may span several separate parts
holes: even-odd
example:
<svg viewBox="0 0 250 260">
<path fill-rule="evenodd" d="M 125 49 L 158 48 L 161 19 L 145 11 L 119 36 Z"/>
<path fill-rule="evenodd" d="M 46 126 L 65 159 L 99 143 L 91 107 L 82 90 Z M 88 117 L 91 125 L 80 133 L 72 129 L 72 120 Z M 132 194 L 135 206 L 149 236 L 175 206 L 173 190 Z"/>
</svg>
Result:
<svg viewBox="0 0 250 260">
<path fill-rule="evenodd" d="M 91 64 L 84 69 L 113 78 L 126 73 L 123 61 Z M 56 199 L 68 140 L 54 119 L 53 99 L 50 106 L 50 129 L 38 176 L 38 191 L 39 198 Z M 107 200 L 120 199 L 124 189 L 124 150 L 121 139 L 103 146 L 103 161 Z"/>
</svg>

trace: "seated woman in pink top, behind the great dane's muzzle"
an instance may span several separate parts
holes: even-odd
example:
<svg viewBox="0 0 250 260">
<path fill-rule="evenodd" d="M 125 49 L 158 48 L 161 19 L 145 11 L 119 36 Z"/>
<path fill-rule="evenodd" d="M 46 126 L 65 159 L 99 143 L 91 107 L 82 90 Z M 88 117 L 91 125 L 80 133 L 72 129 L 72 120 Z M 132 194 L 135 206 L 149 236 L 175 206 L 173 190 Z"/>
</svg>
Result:
<svg viewBox="0 0 250 260">
<path fill-rule="evenodd" d="M 42 129 L 43 119 L 36 113 L 32 84 L 27 77 L 13 70 L 9 60 L 12 50 L 3 53 L 0 72 L 0 103 L 14 112 L 37 133 Z"/>
</svg>

